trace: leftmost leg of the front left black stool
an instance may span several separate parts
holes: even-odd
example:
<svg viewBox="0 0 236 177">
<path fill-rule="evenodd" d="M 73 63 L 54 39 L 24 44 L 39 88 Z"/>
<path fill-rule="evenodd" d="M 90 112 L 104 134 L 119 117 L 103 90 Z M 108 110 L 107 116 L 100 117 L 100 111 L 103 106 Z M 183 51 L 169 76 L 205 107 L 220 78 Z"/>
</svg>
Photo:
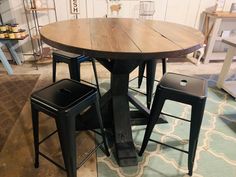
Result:
<svg viewBox="0 0 236 177">
<path fill-rule="evenodd" d="M 38 110 L 32 106 L 31 103 L 31 114 L 32 114 L 32 123 L 33 123 L 33 136 L 34 136 L 34 167 L 39 167 L 39 114 Z"/>
</svg>

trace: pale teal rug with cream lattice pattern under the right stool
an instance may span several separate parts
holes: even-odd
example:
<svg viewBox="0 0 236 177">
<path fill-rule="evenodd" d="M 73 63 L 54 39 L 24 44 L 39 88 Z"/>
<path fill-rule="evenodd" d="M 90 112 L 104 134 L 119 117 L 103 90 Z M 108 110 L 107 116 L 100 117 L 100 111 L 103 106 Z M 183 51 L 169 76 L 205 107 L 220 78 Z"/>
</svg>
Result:
<svg viewBox="0 0 236 177">
<path fill-rule="evenodd" d="M 208 99 L 206 103 L 198 149 L 195 158 L 195 177 L 235 177 L 236 176 L 236 102 L 231 96 L 215 87 L 217 77 L 202 76 L 208 79 Z M 135 86 L 137 81 L 134 81 Z M 131 83 L 132 85 L 132 83 Z M 104 90 L 109 83 L 104 81 Z M 134 85 L 133 85 L 134 86 Z M 135 87 L 134 86 L 134 87 Z M 143 83 L 145 86 L 145 83 Z M 141 89 L 144 91 L 144 89 Z M 141 94 L 133 93 L 145 102 Z M 191 107 L 167 101 L 164 112 L 190 118 Z M 156 125 L 153 139 L 188 149 L 189 123 L 166 117 L 168 124 Z M 142 144 L 145 126 L 132 127 L 137 151 Z M 183 177 L 187 175 L 187 154 L 149 142 L 143 157 L 138 157 L 138 166 L 121 168 L 114 156 L 107 158 L 98 152 L 99 177 Z"/>
</svg>

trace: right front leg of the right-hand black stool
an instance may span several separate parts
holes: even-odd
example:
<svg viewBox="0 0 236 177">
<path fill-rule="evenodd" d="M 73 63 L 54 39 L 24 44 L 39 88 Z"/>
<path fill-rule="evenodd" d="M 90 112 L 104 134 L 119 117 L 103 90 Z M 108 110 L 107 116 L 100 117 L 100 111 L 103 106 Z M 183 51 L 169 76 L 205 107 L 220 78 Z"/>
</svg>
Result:
<svg viewBox="0 0 236 177">
<path fill-rule="evenodd" d="M 188 170 L 190 176 L 192 176 L 193 173 L 194 159 L 197 150 L 198 136 L 201 128 L 204 108 L 205 100 L 192 106 L 188 154 Z"/>
</svg>

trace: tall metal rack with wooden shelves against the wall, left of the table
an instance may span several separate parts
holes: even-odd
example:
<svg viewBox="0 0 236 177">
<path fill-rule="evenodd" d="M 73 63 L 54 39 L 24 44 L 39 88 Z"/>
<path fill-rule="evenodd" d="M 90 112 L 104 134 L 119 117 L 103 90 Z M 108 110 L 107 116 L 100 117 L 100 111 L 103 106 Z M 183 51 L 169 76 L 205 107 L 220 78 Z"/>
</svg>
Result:
<svg viewBox="0 0 236 177">
<path fill-rule="evenodd" d="M 52 17 L 50 15 L 50 12 L 53 11 L 53 21 L 57 21 L 56 4 L 55 0 L 44 0 L 44 4 L 42 5 L 42 7 L 37 7 L 36 0 L 23 0 L 23 5 L 25 9 L 29 36 L 31 39 L 33 56 L 36 61 L 37 67 L 37 64 L 51 62 L 51 49 L 49 48 L 49 46 L 46 46 L 46 44 L 44 44 L 40 39 L 39 30 L 43 26 L 43 24 L 40 22 L 40 18 L 43 15 L 47 15 L 48 23 L 51 23 L 52 20 L 50 18 Z"/>
</svg>

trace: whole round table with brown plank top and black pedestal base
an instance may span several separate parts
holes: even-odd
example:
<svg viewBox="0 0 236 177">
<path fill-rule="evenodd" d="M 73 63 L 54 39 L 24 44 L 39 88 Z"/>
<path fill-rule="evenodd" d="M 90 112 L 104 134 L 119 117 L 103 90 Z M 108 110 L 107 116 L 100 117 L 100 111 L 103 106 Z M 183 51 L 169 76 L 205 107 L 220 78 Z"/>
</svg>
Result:
<svg viewBox="0 0 236 177">
<path fill-rule="evenodd" d="M 187 54 L 200 48 L 204 40 L 200 32 L 183 25 L 118 18 L 62 21 L 42 27 L 40 33 L 47 44 L 94 57 L 111 72 L 111 88 L 101 98 L 101 105 L 105 127 L 114 129 L 120 166 L 137 165 L 131 125 L 146 124 L 149 114 L 130 97 L 129 74 L 144 60 Z M 129 110 L 129 100 L 143 117 Z M 85 124 L 92 127 L 94 121 Z"/>
</svg>

